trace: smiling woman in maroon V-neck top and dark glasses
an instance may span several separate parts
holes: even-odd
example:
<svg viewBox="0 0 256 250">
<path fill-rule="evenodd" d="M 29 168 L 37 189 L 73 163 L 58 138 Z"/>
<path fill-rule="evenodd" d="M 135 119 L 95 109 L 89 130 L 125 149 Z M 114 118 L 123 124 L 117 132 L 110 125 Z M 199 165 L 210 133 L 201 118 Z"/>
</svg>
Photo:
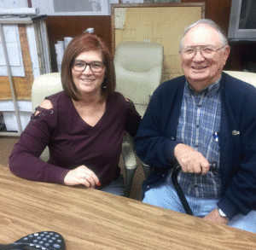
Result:
<svg viewBox="0 0 256 250">
<path fill-rule="evenodd" d="M 73 38 L 63 56 L 61 83 L 64 91 L 45 98 L 15 144 L 11 172 L 123 195 L 122 138 L 125 131 L 136 135 L 141 117 L 114 91 L 113 60 L 102 38 L 89 33 Z M 47 163 L 39 159 L 46 146 Z"/>
</svg>

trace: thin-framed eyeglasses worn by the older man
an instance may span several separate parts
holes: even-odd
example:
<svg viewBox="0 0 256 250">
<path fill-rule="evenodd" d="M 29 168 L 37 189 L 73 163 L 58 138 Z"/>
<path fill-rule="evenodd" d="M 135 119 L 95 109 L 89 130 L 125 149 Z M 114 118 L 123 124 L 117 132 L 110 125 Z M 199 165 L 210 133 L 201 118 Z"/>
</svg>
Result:
<svg viewBox="0 0 256 250">
<path fill-rule="evenodd" d="M 214 45 L 201 45 L 201 46 L 187 46 L 180 50 L 180 53 L 185 60 L 192 59 L 195 56 L 197 50 L 200 50 L 201 55 L 206 59 L 212 59 L 219 49 L 224 48 L 223 45 L 220 48 L 216 48 Z"/>
</svg>

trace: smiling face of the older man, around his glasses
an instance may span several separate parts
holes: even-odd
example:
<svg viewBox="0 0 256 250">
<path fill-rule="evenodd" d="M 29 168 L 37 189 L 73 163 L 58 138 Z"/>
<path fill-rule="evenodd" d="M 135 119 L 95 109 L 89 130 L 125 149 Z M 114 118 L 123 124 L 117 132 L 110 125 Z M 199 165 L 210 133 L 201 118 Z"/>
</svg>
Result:
<svg viewBox="0 0 256 250">
<path fill-rule="evenodd" d="M 197 25 L 193 27 L 185 35 L 183 39 L 183 48 L 187 46 L 213 45 L 216 49 L 222 47 L 222 41 L 218 32 L 211 26 Z M 201 91 L 207 88 L 208 85 L 214 83 L 221 76 L 221 72 L 228 59 L 230 52 L 229 46 L 224 46 L 223 49 L 218 49 L 216 55 L 211 59 L 201 55 L 200 49 L 197 49 L 195 55 L 189 60 L 184 58 L 181 53 L 181 61 L 183 73 L 189 81 L 189 84 L 195 91 Z"/>
</svg>

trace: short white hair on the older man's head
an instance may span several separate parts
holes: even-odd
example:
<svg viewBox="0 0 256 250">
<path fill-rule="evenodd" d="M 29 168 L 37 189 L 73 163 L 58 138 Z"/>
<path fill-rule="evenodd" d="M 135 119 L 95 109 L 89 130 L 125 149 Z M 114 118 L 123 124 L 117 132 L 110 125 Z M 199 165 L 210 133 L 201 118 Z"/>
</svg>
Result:
<svg viewBox="0 0 256 250">
<path fill-rule="evenodd" d="M 220 26 L 218 26 L 218 24 L 216 24 L 213 20 L 209 20 L 209 19 L 201 19 L 201 20 L 197 20 L 195 21 L 193 24 L 191 24 L 190 26 L 186 27 L 183 31 L 183 38 L 179 44 L 179 50 L 181 50 L 183 48 L 183 42 L 184 42 L 184 37 L 186 36 L 186 34 L 195 26 L 197 25 L 207 25 L 207 26 L 211 26 L 214 30 L 216 30 L 219 34 L 219 38 L 221 40 L 221 43 L 223 45 L 228 45 L 228 38 L 226 37 L 224 31 L 222 30 L 222 28 Z"/>
</svg>

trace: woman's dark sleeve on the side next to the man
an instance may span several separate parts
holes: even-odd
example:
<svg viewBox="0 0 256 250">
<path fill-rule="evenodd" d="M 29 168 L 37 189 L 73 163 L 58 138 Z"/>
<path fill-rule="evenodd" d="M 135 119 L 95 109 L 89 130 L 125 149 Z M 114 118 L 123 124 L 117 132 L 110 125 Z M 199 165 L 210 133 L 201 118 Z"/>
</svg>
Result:
<svg viewBox="0 0 256 250">
<path fill-rule="evenodd" d="M 125 131 L 127 131 L 131 137 L 135 137 L 137 134 L 138 126 L 140 125 L 142 117 L 135 108 L 135 105 L 131 100 L 127 101 L 127 112 L 125 118 Z"/>
</svg>

